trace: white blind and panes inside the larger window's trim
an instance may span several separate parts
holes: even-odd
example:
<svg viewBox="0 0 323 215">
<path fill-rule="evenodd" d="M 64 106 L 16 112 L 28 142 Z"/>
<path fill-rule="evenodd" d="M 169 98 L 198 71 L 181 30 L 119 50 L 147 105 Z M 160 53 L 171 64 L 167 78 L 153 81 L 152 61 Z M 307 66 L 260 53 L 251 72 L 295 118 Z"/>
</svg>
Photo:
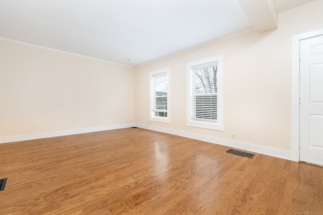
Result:
<svg viewBox="0 0 323 215">
<path fill-rule="evenodd" d="M 218 120 L 218 61 L 191 66 L 191 120 Z"/>
</svg>

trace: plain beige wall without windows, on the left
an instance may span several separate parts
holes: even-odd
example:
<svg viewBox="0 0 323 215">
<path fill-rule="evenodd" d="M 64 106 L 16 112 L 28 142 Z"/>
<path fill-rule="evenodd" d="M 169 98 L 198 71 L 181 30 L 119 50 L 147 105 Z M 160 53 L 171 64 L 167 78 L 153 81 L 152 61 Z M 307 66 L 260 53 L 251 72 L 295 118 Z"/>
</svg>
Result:
<svg viewBox="0 0 323 215">
<path fill-rule="evenodd" d="M 135 121 L 134 68 L 0 40 L 0 137 Z"/>
</svg>

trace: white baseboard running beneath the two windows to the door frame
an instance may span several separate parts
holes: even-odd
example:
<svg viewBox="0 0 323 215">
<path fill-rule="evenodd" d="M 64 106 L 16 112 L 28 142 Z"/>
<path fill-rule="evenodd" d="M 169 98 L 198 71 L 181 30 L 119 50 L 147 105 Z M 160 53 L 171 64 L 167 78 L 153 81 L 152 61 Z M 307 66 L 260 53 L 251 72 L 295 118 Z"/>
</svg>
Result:
<svg viewBox="0 0 323 215">
<path fill-rule="evenodd" d="M 202 140 L 205 142 L 211 142 L 212 144 L 219 144 L 219 145 L 246 150 L 250 152 L 255 152 L 263 155 L 273 156 L 273 157 L 282 158 L 286 160 L 292 160 L 292 154 L 290 151 L 279 150 L 279 149 L 274 149 L 269 147 L 262 147 L 258 145 L 248 144 L 246 142 L 239 142 L 239 141 L 223 139 L 223 138 L 218 138 L 213 136 L 206 136 L 206 135 L 174 130 L 169 128 L 161 128 L 161 127 L 150 126 L 146 124 L 136 124 L 136 126 L 140 128 L 148 129 L 148 130 L 154 130 L 158 132 L 169 133 L 169 134 L 188 137 L 192 139 Z"/>
</svg>

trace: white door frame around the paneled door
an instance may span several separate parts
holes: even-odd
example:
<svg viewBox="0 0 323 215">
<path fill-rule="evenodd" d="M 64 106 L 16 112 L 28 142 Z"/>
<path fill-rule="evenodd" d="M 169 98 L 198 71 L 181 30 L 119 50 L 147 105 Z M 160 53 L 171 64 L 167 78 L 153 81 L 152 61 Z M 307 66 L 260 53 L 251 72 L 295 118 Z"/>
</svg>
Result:
<svg viewBox="0 0 323 215">
<path fill-rule="evenodd" d="M 323 29 L 318 29 L 292 37 L 292 161 L 299 160 L 299 82 L 300 82 L 300 41 L 323 35 Z"/>
</svg>

